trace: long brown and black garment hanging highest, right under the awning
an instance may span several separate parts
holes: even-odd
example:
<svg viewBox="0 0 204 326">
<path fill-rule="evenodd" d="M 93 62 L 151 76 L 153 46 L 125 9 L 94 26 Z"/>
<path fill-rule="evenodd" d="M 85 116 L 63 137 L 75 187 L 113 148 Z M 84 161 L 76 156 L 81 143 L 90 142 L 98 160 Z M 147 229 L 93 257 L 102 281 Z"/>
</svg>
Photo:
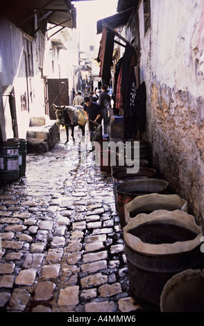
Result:
<svg viewBox="0 0 204 326">
<path fill-rule="evenodd" d="M 100 42 L 98 62 L 101 62 L 99 76 L 103 85 L 110 86 L 110 67 L 112 66 L 112 53 L 114 48 L 114 32 L 110 28 L 103 26 L 103 32 Z"/>
</svg>

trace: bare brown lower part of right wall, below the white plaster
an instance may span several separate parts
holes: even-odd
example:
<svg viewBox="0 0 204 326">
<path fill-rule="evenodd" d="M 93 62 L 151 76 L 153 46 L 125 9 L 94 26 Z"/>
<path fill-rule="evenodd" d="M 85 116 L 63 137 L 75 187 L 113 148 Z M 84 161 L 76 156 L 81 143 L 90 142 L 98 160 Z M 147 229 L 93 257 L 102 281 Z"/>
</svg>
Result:
<svg viewBox="0 0 204 326">
<path fill-rule="evenodd" d="M 199 222 L 204 216 L 204 98 L 152 80 L 148 137 L 153 164 Z"/>
</svg>

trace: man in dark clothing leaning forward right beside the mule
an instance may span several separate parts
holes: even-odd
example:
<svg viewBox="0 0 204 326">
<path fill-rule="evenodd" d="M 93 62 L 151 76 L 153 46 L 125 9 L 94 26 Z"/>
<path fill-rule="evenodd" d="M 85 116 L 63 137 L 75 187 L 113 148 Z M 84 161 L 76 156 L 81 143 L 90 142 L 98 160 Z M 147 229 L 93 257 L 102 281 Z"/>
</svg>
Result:
<svg viewBox="0 0 204 326">
<path fill-rule="evenodd" d="M 98 124 L 96 123 L 101 123 L 100 122 L 100 117 L 101 117 L 101 110 L 99 107 L 99 104 L 92 102 L 90 97 L 86 96 L 85 99 L 85 104 L 83 105 L 83 110 L 85 110 L 85 114 L 87 117 L 87 120 L 89 121 L 89 128 L 90 128 L 90 140 L 92 140 L 92 136 L 94 135 L 94 131 Z"/>
</svg>

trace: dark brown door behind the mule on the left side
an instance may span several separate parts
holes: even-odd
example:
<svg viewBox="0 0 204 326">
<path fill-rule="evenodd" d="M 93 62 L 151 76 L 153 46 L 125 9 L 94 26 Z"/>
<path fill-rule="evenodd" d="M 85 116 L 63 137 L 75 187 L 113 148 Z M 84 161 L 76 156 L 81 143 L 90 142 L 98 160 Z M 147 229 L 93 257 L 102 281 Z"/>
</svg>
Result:
<svg viewBox="0 0 204 326">
<path fill-rule="evenodd" d="M 56 111 L 53 104 L 69 105 L 69 83 L 68 79 L 48 79 L 49 117 L 56 120 Z"/>
</svg>

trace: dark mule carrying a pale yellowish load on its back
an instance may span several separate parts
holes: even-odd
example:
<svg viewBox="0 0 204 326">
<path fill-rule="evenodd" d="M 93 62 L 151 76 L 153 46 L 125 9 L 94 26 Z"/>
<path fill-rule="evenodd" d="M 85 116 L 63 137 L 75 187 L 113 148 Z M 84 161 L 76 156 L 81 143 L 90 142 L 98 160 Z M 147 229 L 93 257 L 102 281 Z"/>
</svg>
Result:
<svg viewBox="0 0 204 326">
<path fill-rule="evenodd" d="M 80 105 L 75 106 L 57 106 L 53 104 L 53 108 L 56 110 L 56 119 L 57 124 L 65 126 L 67 132 L 67 142 L 69 141 L 69 127 L 71 127 L 71 136 L 74 139 L 74 127 L 79 126 L 82 130 L 82 135 L 85 136 L 85 123 L 87 120 L 85 119 L 86 115 L 83 110 L 83 107 Z"/>
</svg>

